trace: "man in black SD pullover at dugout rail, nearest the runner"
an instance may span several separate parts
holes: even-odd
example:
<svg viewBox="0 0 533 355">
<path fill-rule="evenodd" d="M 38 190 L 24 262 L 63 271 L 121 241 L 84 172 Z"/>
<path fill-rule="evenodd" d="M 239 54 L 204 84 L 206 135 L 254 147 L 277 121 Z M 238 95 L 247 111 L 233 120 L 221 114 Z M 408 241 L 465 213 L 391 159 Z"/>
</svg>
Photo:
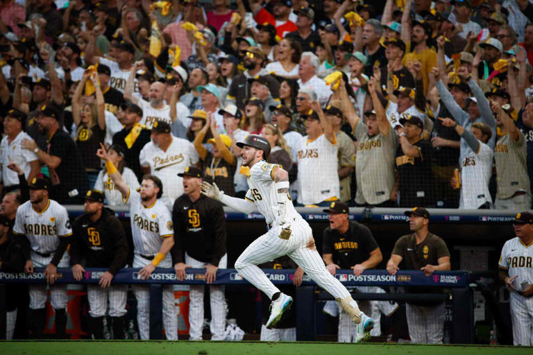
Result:
<svg viewBox="0 0 533 355">
<path fill-rule="evenodd" d="M 217 279 L 217 270 L 228 266 L 226 254 L 226 217 L 221 202 L 203 196 L 200 191 L 202 171 L 187 166 L 178 176 L 183 191 L 172 208 L 174 247 L 172 259 L 176 276 L 185 279 L 185 268 L 205 268 L 205 282 Z M 184 262 L 185 261 L 185 262 Z M 190 340 L 201 340 L 203 329 L 204 286 L 191 285 L 189 293 Z M 211 340 L 224 340 L 226 297 L 224 286 L 210 286 Z"/>
</svg>

